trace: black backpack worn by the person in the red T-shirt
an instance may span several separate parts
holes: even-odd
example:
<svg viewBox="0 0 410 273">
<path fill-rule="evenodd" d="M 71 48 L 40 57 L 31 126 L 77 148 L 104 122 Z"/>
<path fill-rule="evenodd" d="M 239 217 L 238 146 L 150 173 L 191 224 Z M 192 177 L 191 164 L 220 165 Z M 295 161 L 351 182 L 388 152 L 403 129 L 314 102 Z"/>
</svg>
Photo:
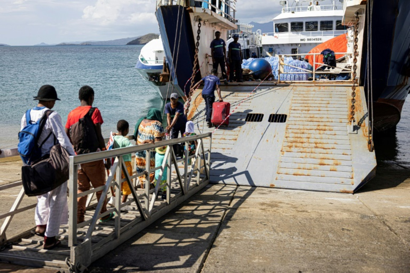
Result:
<svg viewBox="0 0 410 273">
<path fill-rule="evenodd" d="M 71 142 L 77 154 L 93 153 L 97 151 L 99 147 L 96 127 L 91 118 L 94 110 L 96 110 L 96 108 L 91 107 L 90 111 L 88 111 L 84 117 L 80 118 L 78 122 L 75 122 L 71 126 Z"/>
</svg>

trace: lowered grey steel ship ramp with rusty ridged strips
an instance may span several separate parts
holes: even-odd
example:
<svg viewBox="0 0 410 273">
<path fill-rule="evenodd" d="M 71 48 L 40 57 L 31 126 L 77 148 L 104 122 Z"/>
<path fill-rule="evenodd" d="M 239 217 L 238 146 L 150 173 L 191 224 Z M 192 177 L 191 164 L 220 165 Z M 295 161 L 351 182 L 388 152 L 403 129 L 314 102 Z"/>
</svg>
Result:
<svg viewBox="0 0 410 273">
<path fill-rule="evenodd" d="M 235 112 L 229 126 L 216 131 L 207 128 L 200 90 L 194 94 L 189 118 L 200 133 L 214 131 L 211 183 L 353 193 L 374 176 L 362 89 L 355 104 L 356 123 L 362 123 L 349 133 L 350 84 L 264 83 L 248 97 L 256 86 L 221 86 Z M 248 114 L 263 118 L 247 122 Z M 286 115 L 286 121 L 270 122 L 275 114 Z"/>
</svg>

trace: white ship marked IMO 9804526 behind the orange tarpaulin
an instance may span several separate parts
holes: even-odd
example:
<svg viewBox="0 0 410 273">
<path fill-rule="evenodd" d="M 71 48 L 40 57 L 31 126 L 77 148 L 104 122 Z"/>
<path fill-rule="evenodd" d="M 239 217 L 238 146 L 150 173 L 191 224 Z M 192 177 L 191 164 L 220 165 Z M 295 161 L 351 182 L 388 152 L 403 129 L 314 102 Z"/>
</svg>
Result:
<svg viewBox="0 0 410 273">
<path fill-rule="evenodd" d="M 282 12 L 273 18 L 273 32 L 262 34 L 265 56 L 308 53 L 313 47 L 347 32 L 342 25 L 343 5 L 320 5 L 315 1 L 280 1 Z M 300 5 L 299 2 L 302 2 Z M 307 5 L 304 5 L 306 3 Z"/>
</svg>

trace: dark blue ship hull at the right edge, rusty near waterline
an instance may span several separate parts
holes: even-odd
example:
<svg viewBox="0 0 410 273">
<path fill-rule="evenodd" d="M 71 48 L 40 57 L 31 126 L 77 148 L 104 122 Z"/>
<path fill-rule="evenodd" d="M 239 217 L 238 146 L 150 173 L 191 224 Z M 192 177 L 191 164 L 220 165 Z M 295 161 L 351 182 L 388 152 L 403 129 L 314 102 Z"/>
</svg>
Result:
<svg viewBox="0 0 410 273">
<path fill-rule="evenodd" d="M 385 131 L 399 122 L 404 100 L 410 90 L 410 1 L 372 2 L 374 128 Z M 364 44 L 364 52 L 366 49 L 367 45 Z M 362 79 L 367 90 L 367 59 L 363 58 L 363 62 Z"/>
</svg>

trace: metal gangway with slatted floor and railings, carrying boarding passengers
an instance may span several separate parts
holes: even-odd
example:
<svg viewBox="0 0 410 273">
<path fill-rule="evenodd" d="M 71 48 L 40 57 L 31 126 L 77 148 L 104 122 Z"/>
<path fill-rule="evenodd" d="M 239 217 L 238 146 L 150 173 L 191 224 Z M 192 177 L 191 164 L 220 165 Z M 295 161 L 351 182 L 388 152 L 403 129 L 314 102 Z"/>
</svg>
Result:
<svg viewBox="0 0 410 273">
<path fill-rule="evenodd" d="M 130 136 L 130 138 L 133 137 Z M 173 151 L 173 145 L 181 143 L 182 140 L 185 145 L 189 141 L 198 142 L 194 155 L 189 156 L 188 149 L 185 149 L 185 158 L 191 159 L 190 165 L 188 165 L 188 160 L 181 164 L 183 159 L 177 159 Z M 0 221 L 5 219 L 0 229 L 0 262 L 83 272 L 93 261 L 103 257 L 136 235 L 209 183 L 211 142 L 212 134 L 204 133 L 183 139 L 164 140 L 155 144 L 71 156 L 68 180 L 68 225 L 60 226 L 57 238 L 62 241 L 62 244 L 52 250 L 43 249 L 43 237 L 32 234 L 33 226 L 28 226 L 27 231 L 20 235 L 7 238 L 7 230 L 14 217 L 23 212 L 27 214 L 27 210 L 35 208 L 36 202 L 34 202 L 35 197 L 25 196 L 21 181 L 1 185 L 0 192 L 14 187 L 20 187 L 21 190 L 9 212 L 0 215 Z M 138 174 L 133 171 L 132 176 L 128 175 L 123 155 L 139 151 L 152 151 L 152 149 L 164 146 L 166 146 L 166 153 L 162 166 L 150 168 L 150 153 L 146 152 L 146 170 Z M 4 151 L 0 157 L 16 156 L 16 150 Z M 78 194 L 78 165 L 105 158 L 115 158 L 105 185 Z M 137 178 L 141 175 L 150 177 L 150 174 L 155 173 L 158 169 L 160 170 L 158 181 L 161 181 L 162 174 L 167 169 L 166 183 L 159 185 L 158 182 L 151 189 L 150 183 L 144 183 L 144 189 L 140 189 Z M 122 171 L 125 174 L 124 179 L 121 179 Z M 111 187 L 115 186 L 116 196 L 121 195 L 122 182 L 128 183 L 132 190 L 132 196 L 130 195 L 128 201 L 123 204 L 120 203 L 120 198 L 116 198 L 114 208 L 107 206 L 108 210 L 100 213 L 103 201 L 110 194 Z M 164 200 L 160 198 L 161 196 L 158 198 L 159 187 L 166 187 L 166 199 Z M 95 194 L 98 191 L 103 191 L 99 202 L 95 199 Z M 77 224 L 77 198 L 85 195 L 88 195 L 85 221 Z M 32 198 L 34 204 L 21 208 L 23 199 L 27 198 Z M 121 208 L 127 205 L 131 209 L 126 212 L 121 211 Z M 105 223 L 99 221 L 101 217 L 111 212 L 115 212 L 115 217 L 112 220 Z M 34 217 L 34 213 L 31 217 Z"/>
</svg>

